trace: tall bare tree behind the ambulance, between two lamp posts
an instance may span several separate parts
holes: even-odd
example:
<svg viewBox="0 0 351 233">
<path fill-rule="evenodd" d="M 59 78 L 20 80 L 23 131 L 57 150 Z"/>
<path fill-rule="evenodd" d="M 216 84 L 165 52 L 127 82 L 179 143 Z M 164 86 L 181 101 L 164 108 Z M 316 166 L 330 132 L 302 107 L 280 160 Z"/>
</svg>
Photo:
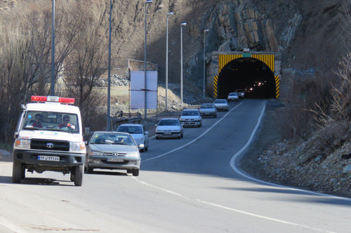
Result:
<svg viewBox="0 0 351 233">
<path fill-rule="evenodd" d="M 78 100 L 85 124 L 98 114 L 103 99 L 93 91 L 96 79 L 107 67 L 107 41 L 105 36 L 100 36 L 101 30 L 105 31 L 100 26 L 101 16 L 102 12 L 92 13 L 77 2 L 71 14 L 75 24 L 67 24 L 65 29 L 67 32 L 77 32 L 77 35 L 72 51 L 65 59 L 64 81 L 67 91 Z"/>
</svg>

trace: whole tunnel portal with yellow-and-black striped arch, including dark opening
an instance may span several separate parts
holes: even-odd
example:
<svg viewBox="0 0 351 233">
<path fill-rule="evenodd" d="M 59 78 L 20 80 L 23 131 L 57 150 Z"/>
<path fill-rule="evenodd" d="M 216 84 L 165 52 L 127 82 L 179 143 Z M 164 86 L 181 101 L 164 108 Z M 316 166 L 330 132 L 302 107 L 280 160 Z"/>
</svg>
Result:
<svg viewBox="0 0 351 233">
<path fill-rule="evenodd" d="M 214 98 L 227 98 L 229 93 L 239 90 L 245 92 L 245 98 L 279 97 L 277 53 L 216 53 L 213 60 Z M 208 88 L 211 90 L 211 86 Z"/>
</svg>

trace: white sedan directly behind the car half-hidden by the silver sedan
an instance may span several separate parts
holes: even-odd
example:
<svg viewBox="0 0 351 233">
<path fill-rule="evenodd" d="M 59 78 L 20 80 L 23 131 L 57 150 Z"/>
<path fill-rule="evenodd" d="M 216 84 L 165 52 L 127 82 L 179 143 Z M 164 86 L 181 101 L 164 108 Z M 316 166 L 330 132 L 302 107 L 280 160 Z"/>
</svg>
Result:
<svg viewBox="0 0 351 233">
<path fill-rule="evenodd" d="M 176 118 L 164 118 L 156 127 L 156 139 L 183 138 L 183 124 Z"/>
</svg>

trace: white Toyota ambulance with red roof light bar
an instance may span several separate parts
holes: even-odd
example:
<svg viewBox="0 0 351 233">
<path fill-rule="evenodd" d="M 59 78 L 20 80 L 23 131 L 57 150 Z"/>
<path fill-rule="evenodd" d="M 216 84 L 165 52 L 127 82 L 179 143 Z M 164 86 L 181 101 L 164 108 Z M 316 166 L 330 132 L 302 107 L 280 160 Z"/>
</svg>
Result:
<svg viewBox="0 0 351 233">
<path fill-rule="evenodd" d="M 83 140 L 79 107 L 73 98 L 32 96 L 22 105 L 13 144 L 15 183 L 25 179 L 25 170 L 61 171 L 71 174 L 74 185 L 81 186 L 86 146 Z"/>
</svg>

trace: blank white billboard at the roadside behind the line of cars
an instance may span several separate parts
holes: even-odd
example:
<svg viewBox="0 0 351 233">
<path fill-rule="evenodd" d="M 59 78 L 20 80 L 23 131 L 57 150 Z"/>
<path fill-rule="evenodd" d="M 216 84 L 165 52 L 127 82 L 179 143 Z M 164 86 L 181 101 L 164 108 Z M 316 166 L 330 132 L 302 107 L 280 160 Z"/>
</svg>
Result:
<svg viewBox="0 0 351 233">
<path fill-rule="evenodd" d="M 147 90 L 147 109 L 157 109 L 157 71 L 131 71 L 131 109 L 145 108 L 145 89 Z"/>
</svg>

